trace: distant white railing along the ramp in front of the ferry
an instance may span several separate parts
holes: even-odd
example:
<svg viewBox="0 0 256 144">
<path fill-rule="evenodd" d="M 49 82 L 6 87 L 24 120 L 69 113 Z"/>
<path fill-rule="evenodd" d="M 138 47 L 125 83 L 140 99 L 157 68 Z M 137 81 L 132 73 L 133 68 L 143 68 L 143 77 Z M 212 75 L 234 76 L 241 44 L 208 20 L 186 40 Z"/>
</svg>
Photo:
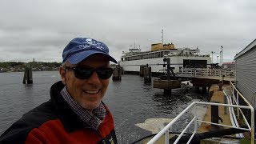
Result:
<svg viewBox="0 0 256 144">
<path fill-rule="evenodd" d="M 234 70 L 223 70 L 223 69 L 202 69 L 202 68 L 180 68 L 178 74 L 190 74 L 190 76 L 218 76 L 234 78 Z"/>
</svg>

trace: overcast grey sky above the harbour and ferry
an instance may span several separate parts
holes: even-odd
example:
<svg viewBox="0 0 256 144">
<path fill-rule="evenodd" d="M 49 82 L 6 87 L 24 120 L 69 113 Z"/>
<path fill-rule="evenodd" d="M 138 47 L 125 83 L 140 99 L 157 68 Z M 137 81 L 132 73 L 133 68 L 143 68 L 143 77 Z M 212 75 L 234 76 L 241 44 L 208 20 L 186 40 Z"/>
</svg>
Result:
<svg viewBox="0 0 256 144">
<path fill-rule="evenodd" d="M 105 42 L 117 60 L 134 42 L 214 51 L 223 62 L 255 37 L 255 0 L 1 0 L 0 62 L 62 62 L 75 37 Z"/>
</svg>

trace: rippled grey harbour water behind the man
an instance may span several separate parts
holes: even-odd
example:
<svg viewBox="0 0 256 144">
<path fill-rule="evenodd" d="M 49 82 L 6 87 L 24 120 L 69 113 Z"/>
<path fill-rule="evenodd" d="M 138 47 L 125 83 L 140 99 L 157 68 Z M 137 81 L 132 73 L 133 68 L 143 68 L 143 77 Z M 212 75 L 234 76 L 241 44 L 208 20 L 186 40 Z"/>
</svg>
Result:
<svg viewBox="0 0 256 144">
<path fill-rule="evenodd" d="M 34 83 L 22 84 L 23 73 L 0 73 L 0 134 L 22 114 L 50 99 L 50 86 L 60 79 L 58 71 L 33 72 Z M 122 81 L 113 82 L 106 91 L 103 102 L 109 106 L 113 116 L 119 143 L 130 143 L 152 134 L 137 123 L 149 118 L 174 118 L 196 100 L 204 100 L 206 94 L 198 94 L 191 87 L 173 90 L 171 96 L 163 90 L 154 89 L 153 84 L 144 84 L 136 75 L 122 75 Z M 190 117 L 190 114 L 187 114 Z M 186 123 L 180 121 L 180 125 Z M 174 126 L 179 130 L 181 126 Z"/>
</svg>

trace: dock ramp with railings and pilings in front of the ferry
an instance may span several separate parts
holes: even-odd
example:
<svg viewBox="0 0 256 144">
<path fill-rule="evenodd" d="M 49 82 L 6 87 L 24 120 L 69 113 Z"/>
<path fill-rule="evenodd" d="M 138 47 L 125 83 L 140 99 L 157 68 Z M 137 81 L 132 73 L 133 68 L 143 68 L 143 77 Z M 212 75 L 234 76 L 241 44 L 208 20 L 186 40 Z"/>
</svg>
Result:
<svg viewBox="0 0 256 144">
<path fill-rule="evenodd" d="M 170 60 L 164 58 L 164 64 L 162 65 L 166 70 L 166 74 L 155 75 L 151 71 L 152 76 L 158 76 L 160 79 L 154 80 L 154 88 L 163 89 L 165 94 L 171 94 L 171 89 L 180 88 L 180 83 L 184 81 L 190 81 L 197 90 L 202 90 L 206 93 L 210 90 L 210 86 L 218 84 L 219 90 L 222 90 L 222 86 L 228 84 L 230 81 L 235 81 L 234 70 L 223 69 L 209 69 L 209 68 L 181 68 L 178 73 L 174 73 L 173 67 L 170 67 Z M 145 65 L 140 66 L 140 70 L 137 74 L 144 77 Z M 136 74 L 135 72 L 127 72 L 126 74 Z"/>
</svg>

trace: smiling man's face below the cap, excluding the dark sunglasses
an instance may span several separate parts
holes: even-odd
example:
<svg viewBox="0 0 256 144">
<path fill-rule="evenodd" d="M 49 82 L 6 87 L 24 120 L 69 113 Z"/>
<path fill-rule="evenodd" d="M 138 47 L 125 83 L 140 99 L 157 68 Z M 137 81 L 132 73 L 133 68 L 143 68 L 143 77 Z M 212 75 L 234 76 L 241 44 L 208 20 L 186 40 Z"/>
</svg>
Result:
<svg viewBox="0 0 256 144">
<path fill-rule="evenodd" d="M 70 66 L 70 65 L 67 65 Z M 109 67 L 110 62 L 106 56 L 94 54 L 77 66 L 86 68 Z M 63 84 L 66 84 L 67 90 L 72 98 L 86 110 L 94 110 L 100 104 L 110 79 L 101 79 L 94 71 L 94 74 L 87 79 L 78 79 L 74 75 L 74 70 L 60 69 Z"/>
</svg>

